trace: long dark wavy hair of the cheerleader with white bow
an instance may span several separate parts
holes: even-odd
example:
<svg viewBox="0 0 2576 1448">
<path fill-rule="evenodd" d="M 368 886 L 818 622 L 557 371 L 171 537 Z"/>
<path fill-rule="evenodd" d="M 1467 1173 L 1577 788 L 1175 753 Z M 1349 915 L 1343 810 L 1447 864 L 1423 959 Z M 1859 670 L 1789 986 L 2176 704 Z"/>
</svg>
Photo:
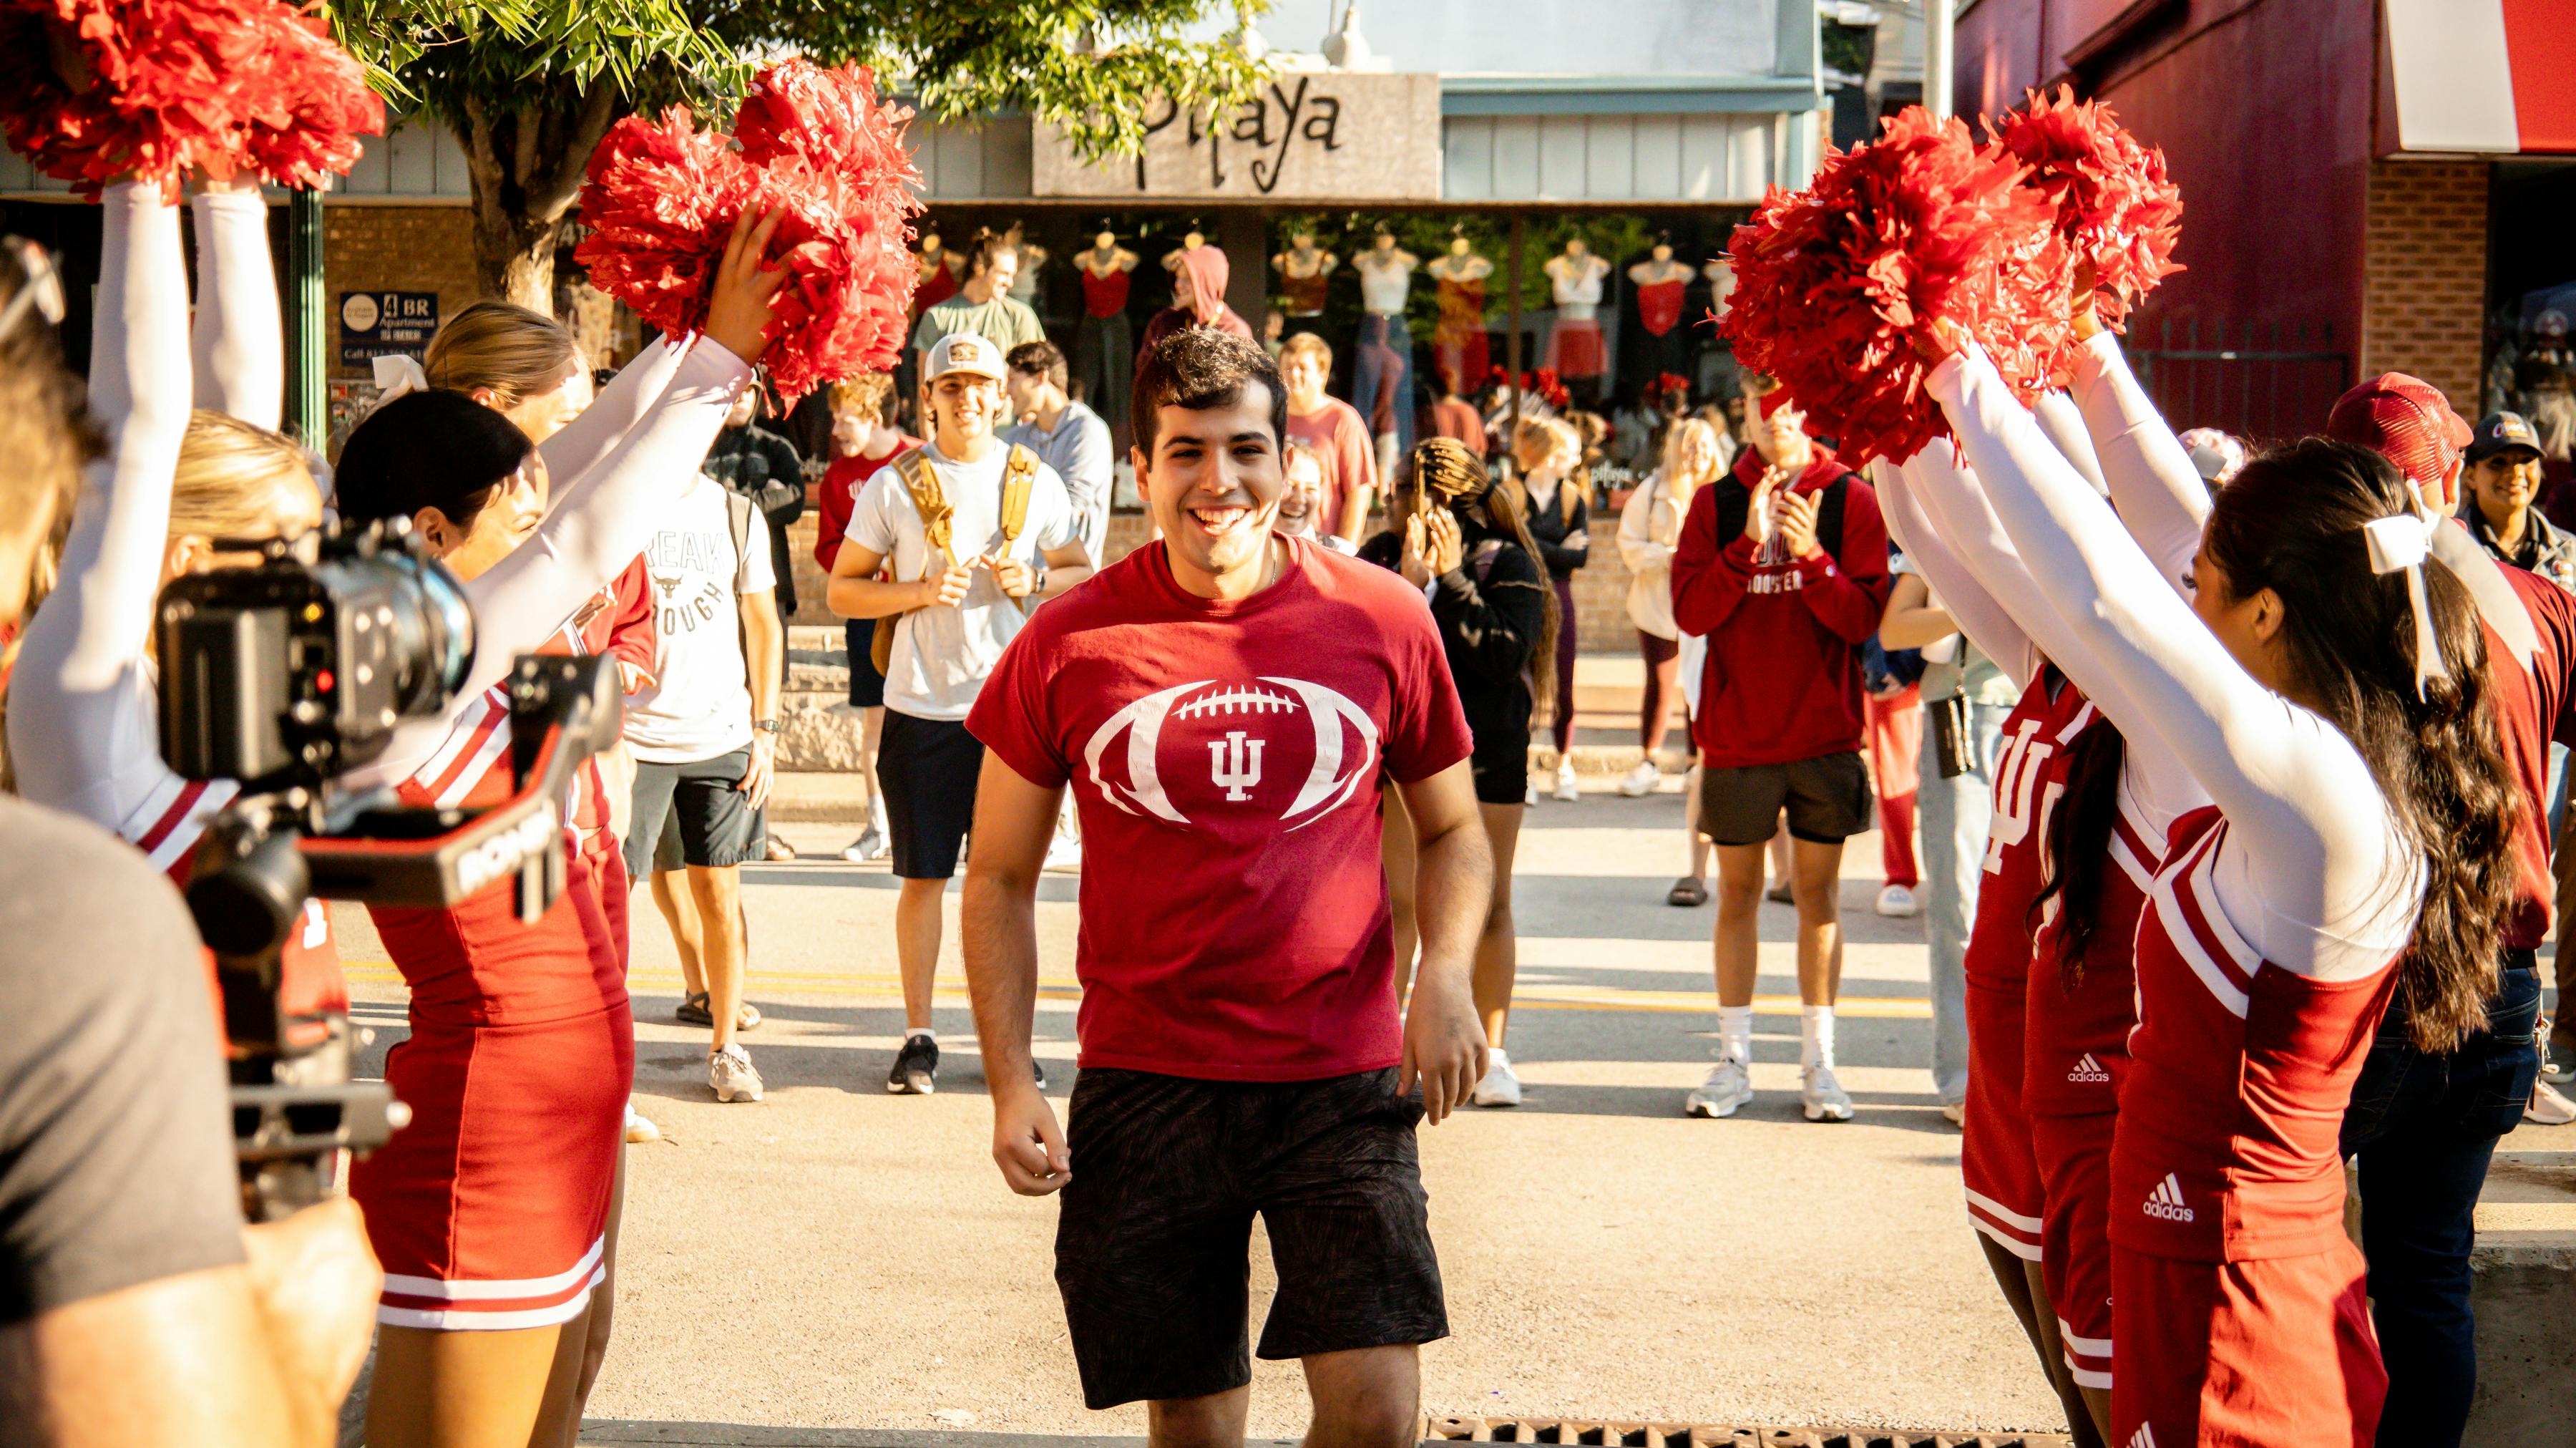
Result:
<svg viewBox="0 0 2576 1448">
<path fill-rule="evenodd" d="M 2280 595 L 2295 691 L 2352 739 L 2398 837 L 2424 855 L 2424 912 L 2391 1010 L 2406 1010 L 2419 1049 L 2452 1051 L 2486 1025 L 2496 989 L 2522 791 L 2496 734 L 2478 608 L 2432 562 L 2424 593 L 2447 678 L 2416 698 L 2406 575 L 2372 572 L 2362 536 L 2365 523 L 2411 508 L 2388 459 L 2308 438 L 2257 456 L 2218 492 L 2202 549 L 2231 598 Z"/>
</svg>

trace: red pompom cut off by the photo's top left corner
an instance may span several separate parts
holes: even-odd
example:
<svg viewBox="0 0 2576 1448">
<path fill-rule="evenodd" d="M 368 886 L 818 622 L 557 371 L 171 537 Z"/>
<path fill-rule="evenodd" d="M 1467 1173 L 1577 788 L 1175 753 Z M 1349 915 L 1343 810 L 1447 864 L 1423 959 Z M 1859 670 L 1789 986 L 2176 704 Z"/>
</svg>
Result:
<svg viewBox="0 0 2576 1448">
<path fill-rule="evenodd" d="M 0 131 L 82 193 L 191 170 L 317 186 L 384 131 L 322 21 L 283 0 L 0 0 Z"/>
</svg>

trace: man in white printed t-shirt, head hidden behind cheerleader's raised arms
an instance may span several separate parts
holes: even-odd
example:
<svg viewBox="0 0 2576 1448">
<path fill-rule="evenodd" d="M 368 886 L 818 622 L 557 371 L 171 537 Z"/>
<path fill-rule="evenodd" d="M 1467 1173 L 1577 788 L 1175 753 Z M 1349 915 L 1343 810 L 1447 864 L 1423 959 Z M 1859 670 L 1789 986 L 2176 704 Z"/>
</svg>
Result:
<svg viewBox="0 0 2576 1448">
<path fill-rule="evenodd" d="M 750 500 L 698 474 L 644 549 L 654 680 L 626 701 L 636 757 L 626 868 L 652 871 L 672 943 L 696 953 L 716 1100 L 760 1100 L 742 1028 L 742 863 L 768 855 L 762 806 L 778 752 L 778 572 Z M 693 995 L 683 1013 L 701 1005 Z M 685 1015 L 688 1018 L 688 1015 Z"/>
</svg>

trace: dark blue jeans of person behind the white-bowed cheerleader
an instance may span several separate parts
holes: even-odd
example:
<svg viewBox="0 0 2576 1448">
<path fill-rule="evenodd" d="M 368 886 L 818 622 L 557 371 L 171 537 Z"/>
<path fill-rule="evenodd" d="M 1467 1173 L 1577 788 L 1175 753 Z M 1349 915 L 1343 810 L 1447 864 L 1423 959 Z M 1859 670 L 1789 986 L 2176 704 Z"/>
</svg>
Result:
<svg viewBox="0 0 2576 1448">
<path fill-rule="evenodd" d="M 2522 1121 L 2540 1074 L 2540 969 L 2530 951 L 2506 951 L 2486 1013 L 2486 1031 L 2429 1056 L 2406 1038 L 2403 1010 L 2391 1007 L 2344 1113 L 2344 1154 L 2362 1159 L 2370 1317 L 2388 1363 L 2378 1440 L 2391 1448 L 2458 1445 L 2478 1391 L 2468 1252 L 2496 1139 Z"/>
</svg>

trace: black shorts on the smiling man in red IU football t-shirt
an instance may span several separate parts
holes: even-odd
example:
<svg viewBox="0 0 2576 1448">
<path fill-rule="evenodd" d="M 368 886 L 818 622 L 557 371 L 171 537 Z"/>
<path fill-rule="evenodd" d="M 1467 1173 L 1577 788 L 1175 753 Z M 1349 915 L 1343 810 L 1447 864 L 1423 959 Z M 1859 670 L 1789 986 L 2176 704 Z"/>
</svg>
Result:
<svg viewBox="0 0 2576 1448">
<path fill-rule="evenodd" d="M 1252 1216 L 1278 1296 L 1262 1358 L 1448 1337 L 1414 1123 L 1396 1072 L 1200 1082 L 1084 1069 L 1056 1219 L 1082 1399 L 1118 1407 L 1252 1381 Z"/>
</svg>

